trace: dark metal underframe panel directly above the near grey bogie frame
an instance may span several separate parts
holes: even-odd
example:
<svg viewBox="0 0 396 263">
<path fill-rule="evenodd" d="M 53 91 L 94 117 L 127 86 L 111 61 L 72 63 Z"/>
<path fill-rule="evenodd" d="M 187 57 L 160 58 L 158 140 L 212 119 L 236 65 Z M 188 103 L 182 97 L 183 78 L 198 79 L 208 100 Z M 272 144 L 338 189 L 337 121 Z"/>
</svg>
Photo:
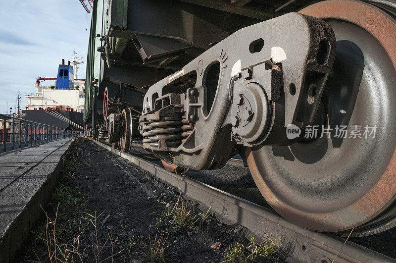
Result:
<svg viewBox="0 0 396 263">
<path fill-rule="evenodd" d="M 128 5 L 127 31 L 188 42 L 201 49 L 259 22 L 230 12 L 178 0 L 139 0 Z M 133 14 L 133 15 L 132 15 Z"/>
</svg>

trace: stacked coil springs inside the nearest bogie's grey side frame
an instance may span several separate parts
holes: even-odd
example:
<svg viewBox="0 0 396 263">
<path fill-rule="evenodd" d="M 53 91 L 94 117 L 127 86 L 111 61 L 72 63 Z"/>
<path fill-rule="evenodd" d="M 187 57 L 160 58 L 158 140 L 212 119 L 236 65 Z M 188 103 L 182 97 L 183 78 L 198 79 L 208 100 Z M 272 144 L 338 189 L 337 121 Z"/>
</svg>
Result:
<svg viewBox="0 0 396 263">
<path fill-rule="evenodd" d="M 194 124 L 183 117 L 182 120 L 149 121 L 143 126 L 143 143 L 159 147 L 159 140 L 165 140 L 167 147 L 178 147 L 191 134 Z"/>
</svg>

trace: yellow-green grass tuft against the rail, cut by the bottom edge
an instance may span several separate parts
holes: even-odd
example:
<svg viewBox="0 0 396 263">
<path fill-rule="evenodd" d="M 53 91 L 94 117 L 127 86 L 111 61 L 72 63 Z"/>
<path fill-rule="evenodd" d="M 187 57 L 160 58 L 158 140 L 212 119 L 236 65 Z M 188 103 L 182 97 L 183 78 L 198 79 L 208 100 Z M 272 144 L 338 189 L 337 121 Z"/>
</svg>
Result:
<svg viewBox="0 0 396 263">
<path fill-rule="evenodd" d="M 247 247 L 236 241 L 230 247 L 225 247 L 223 262 L 276 262 L 279 250 L 279 240 L 273 241 L 271 238 L 265 238 L 257 245 L 252 236 Z"/>
</svg>

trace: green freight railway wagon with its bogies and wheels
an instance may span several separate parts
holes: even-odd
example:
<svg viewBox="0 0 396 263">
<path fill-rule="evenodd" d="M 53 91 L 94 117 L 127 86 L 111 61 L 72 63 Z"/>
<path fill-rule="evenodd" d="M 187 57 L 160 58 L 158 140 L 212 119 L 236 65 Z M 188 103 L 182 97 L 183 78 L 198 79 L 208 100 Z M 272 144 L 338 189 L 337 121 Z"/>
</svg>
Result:
<svg viewBox="0 0 396 263">
<path fill-rule="evenodd" d="M 176 173 L 240 153 L 293 223 L 352 236 L 393 227 L 396 5 L 236 2 L 96 1 L 92 136 L 123 152 L 144 137 Z"/>
</svg>

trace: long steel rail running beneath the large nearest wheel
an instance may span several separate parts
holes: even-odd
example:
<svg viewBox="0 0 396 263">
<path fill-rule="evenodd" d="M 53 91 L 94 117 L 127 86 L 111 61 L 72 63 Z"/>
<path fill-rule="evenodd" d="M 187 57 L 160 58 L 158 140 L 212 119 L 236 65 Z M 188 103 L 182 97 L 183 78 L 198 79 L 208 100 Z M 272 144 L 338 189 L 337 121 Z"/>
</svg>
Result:
<svg viewBox="0 0 396 263">
<path fill-rule="evenodd" d="M 146 159 L 123 153 L 94 141 L 100 147 L 129 160 L 155 177 L 180 189 L 181 193 L 211 209 L 219 221 L 241 224 L 256 237 L 270 237 L 290 253 L 292 262 L 396 262 L 394 259 L 335 236 L 313 232 L 292 224 L 272 210 L 231 195 L 210 185 L 166 171 Z"/>
</svg>

